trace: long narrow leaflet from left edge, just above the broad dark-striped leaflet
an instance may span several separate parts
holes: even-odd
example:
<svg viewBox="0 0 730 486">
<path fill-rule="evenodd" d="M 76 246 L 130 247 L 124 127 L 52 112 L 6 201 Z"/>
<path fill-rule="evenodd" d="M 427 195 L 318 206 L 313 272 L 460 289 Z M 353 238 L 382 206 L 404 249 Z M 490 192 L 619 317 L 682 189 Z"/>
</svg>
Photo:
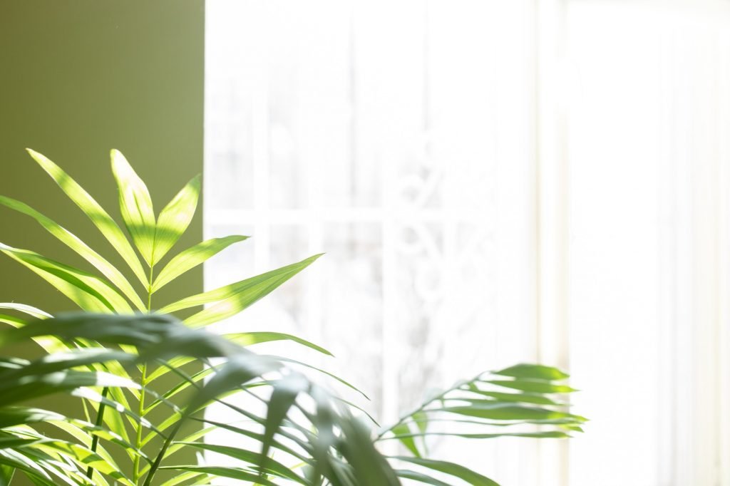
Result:
<svg viewBox="0 0 730 486">
<path fill-rule="evenodd" d="M 121 274 L 121 272 L 118 271 L 118 269 L 116 269 L 116 267 L 109 263 L 104 257 L 99 255 L 99 253 L 92 250 L 91 247 L 88 246 L 88 244 L 85 244 L 77 236 L 66 230 L 66 228 L 58 225 L 50 218 L 42 215 L 42 213 L 36 211 L 35 209 L 23 202 L 16 201 L 12 198 L 0 196 L 0 204 L 4 204 L 4 206 L 9 207 L 10 209 L 15 209 L 15 211 L 23 213 L 24 215 L 28 215 L 37 220 L 37 222 L 40 223 L 40 225 L 42 225 L 43 228 L 45 228 L 50 234 L 55 236 L 62 243 L 66 244 L 67 247 L 77 252 L 82 258 L 85 259 L 85 261 L 88 261 L 94 267 L 96 267 L 97 270 L 101 271 L 101 274 L 103 274 L 104 277 L 107 277 L 110 282 L 116 285 L 117 288 L 121 290 L 124 295 L 132 302 L 132 304 L 134 304 L 134 306 L 137 306 L 137 309 L 145 310 L 145 304 L 142 303 L 142 299 L 139 298 L 137 292 L 134 291 L 134 288 L 123 276 L 123 274 Z"/>
</svg>

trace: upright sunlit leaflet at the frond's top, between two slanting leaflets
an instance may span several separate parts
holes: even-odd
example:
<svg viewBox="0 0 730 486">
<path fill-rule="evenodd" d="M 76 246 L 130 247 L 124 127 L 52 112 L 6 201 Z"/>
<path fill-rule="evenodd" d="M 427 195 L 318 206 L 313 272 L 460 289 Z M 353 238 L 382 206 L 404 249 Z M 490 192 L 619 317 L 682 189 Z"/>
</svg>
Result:
<svg viewBox="0 0 730 486">
<path fill-rule="evenodd" d="M 137 250 L 152 266 L 155 261 L 155 209 L 150 191 L 119 150 L 112 150 L 112 172 L 119 188 L 119 209 Z"/>
</svg>

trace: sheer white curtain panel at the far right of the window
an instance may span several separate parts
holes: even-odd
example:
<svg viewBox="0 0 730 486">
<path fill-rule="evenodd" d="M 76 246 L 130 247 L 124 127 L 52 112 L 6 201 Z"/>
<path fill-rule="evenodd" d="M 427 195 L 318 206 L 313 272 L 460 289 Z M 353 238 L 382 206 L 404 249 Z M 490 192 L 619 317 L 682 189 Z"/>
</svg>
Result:
<svg viewBox="0 0 730 486">
<path fill-rule="evenodd" d="M 596 418 L 573 482 L 730 485 L 730 4 L 575 1 L 567 25 L 569 349 Z"/>
</svg>

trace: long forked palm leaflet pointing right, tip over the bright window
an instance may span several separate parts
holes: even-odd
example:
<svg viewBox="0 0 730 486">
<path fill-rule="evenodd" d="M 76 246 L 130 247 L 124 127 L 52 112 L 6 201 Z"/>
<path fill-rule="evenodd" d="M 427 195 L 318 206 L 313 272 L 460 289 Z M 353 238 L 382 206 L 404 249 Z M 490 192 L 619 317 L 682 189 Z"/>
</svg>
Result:
<svg viewBox="0 0 730 486">
<path fill-rule="evenodd" d="M 220 320 L 237 315 L 246 307 L 258 301 L 260 298 L 269 295 L 275 288 L 282 285 L 288 279 L 298 274 L 303 269 L 310 266 L 321 255 L 314 255 L 299 263 L 284 266 L 280 269 L 267 271 L 265 274 L 257 275 L 249 279 L 242 280 L 224 287 L 200 293 L 196 296 L 184 298 L 169 306 L 164 306 L 158 312 L 167 314 L 190 307 L 201 306 L 204 304 L 214 305 L 188 317 L 185 320 L 187 325 L 192 327 L 201 327 Z"/>
</svg>

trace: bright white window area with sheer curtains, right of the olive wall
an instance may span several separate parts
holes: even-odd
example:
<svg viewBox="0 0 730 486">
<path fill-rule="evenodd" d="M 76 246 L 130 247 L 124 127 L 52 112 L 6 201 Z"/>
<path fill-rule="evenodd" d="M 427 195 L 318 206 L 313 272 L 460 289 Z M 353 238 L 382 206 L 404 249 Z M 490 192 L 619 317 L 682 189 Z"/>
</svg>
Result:
<svg viewBox="0 0 730 486">
<path fill-rule="evenodd" d="M 726 2 L 206 9 L 207 236 L 253 235 L 207 285 L 327 253 L 226 326 L 325 345 L 384 422 L 569 368 L 585 436 L 435 451 L 504 485 L 730 485 Z"/>
</svg>

